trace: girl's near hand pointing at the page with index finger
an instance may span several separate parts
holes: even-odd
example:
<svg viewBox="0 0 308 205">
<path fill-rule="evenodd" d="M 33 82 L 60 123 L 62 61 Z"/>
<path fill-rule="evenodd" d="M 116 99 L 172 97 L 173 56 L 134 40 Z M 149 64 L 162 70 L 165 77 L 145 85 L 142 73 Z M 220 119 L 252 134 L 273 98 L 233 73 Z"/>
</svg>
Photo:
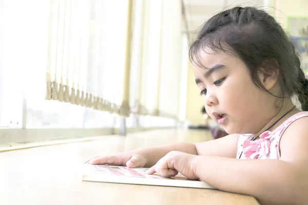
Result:
<svg viewBox="0 0 308 205">
<path fill-rule="evenodd" d="M 164 177 L 176 176 L 179 172 L 189 179 L 199 179 L 195 174 L 195 159 L 198 155 L 171 151 L 161 158 L 147 174 L 158 173 Z"/>
</svg>

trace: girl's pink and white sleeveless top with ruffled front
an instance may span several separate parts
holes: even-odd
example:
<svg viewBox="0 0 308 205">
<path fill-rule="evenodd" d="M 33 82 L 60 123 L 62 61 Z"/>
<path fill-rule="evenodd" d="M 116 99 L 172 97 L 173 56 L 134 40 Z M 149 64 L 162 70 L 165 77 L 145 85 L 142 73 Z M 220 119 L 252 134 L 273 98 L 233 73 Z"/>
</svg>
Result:
<svg viewBox="0 0 308 205">
<path fill-rule="evenodd" d="M 295 120 L 308 117 L 308 112 L 299 112 L 288 118 L 274 131 L 265 131 L 260 134 L 260 138 L 251 141 L 252 135 L 241 135 L 238 140 L 238 151 L 236 158 L 239 159 L 279 159 L 279 142 L 282 134 L 288 126 Z"/>
</svg>

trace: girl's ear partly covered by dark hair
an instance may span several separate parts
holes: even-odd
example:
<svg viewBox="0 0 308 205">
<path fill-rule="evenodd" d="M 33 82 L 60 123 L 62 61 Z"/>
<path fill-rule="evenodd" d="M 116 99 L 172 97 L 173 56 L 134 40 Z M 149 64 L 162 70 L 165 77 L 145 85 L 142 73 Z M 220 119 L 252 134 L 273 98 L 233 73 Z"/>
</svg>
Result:
<svg viewBox="0 0 308 205">
<path fill-rule="evenodd" d="M 278 81 L 279 65 L 275 59 L 266 59 L 262 63 L 259 79 L 266 90 L 271 90 Z"/>
</svg>

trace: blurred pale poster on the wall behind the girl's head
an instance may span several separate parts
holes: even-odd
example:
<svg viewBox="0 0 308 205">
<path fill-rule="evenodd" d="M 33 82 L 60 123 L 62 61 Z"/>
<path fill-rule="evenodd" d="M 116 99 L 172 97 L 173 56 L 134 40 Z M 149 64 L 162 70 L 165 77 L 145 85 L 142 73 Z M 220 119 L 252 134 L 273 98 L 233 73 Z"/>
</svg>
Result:
<svg viewBox="0 0 308 205">
<path fill-rule="evenodd" d="M 288 17 L 288 31 L 293 38 L 298 53 L 301 56 L 301 65 L 308 75 L 308 16 Z"/>
</svg>

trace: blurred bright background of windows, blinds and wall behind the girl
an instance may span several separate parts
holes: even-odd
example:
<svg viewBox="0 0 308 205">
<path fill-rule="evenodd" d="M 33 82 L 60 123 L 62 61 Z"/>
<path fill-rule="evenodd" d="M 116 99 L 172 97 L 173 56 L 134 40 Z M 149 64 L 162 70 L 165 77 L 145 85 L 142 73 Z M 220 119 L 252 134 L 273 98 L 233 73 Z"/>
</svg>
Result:
<svg viewBox="0 0 308 205">
<path fill-rule="evenodd" d="M 0 0 L 0 144 L 205 125 L 188 46 L 233 6 L 271 13 L 307 73 L 307 0 Z"/>
</svg>

